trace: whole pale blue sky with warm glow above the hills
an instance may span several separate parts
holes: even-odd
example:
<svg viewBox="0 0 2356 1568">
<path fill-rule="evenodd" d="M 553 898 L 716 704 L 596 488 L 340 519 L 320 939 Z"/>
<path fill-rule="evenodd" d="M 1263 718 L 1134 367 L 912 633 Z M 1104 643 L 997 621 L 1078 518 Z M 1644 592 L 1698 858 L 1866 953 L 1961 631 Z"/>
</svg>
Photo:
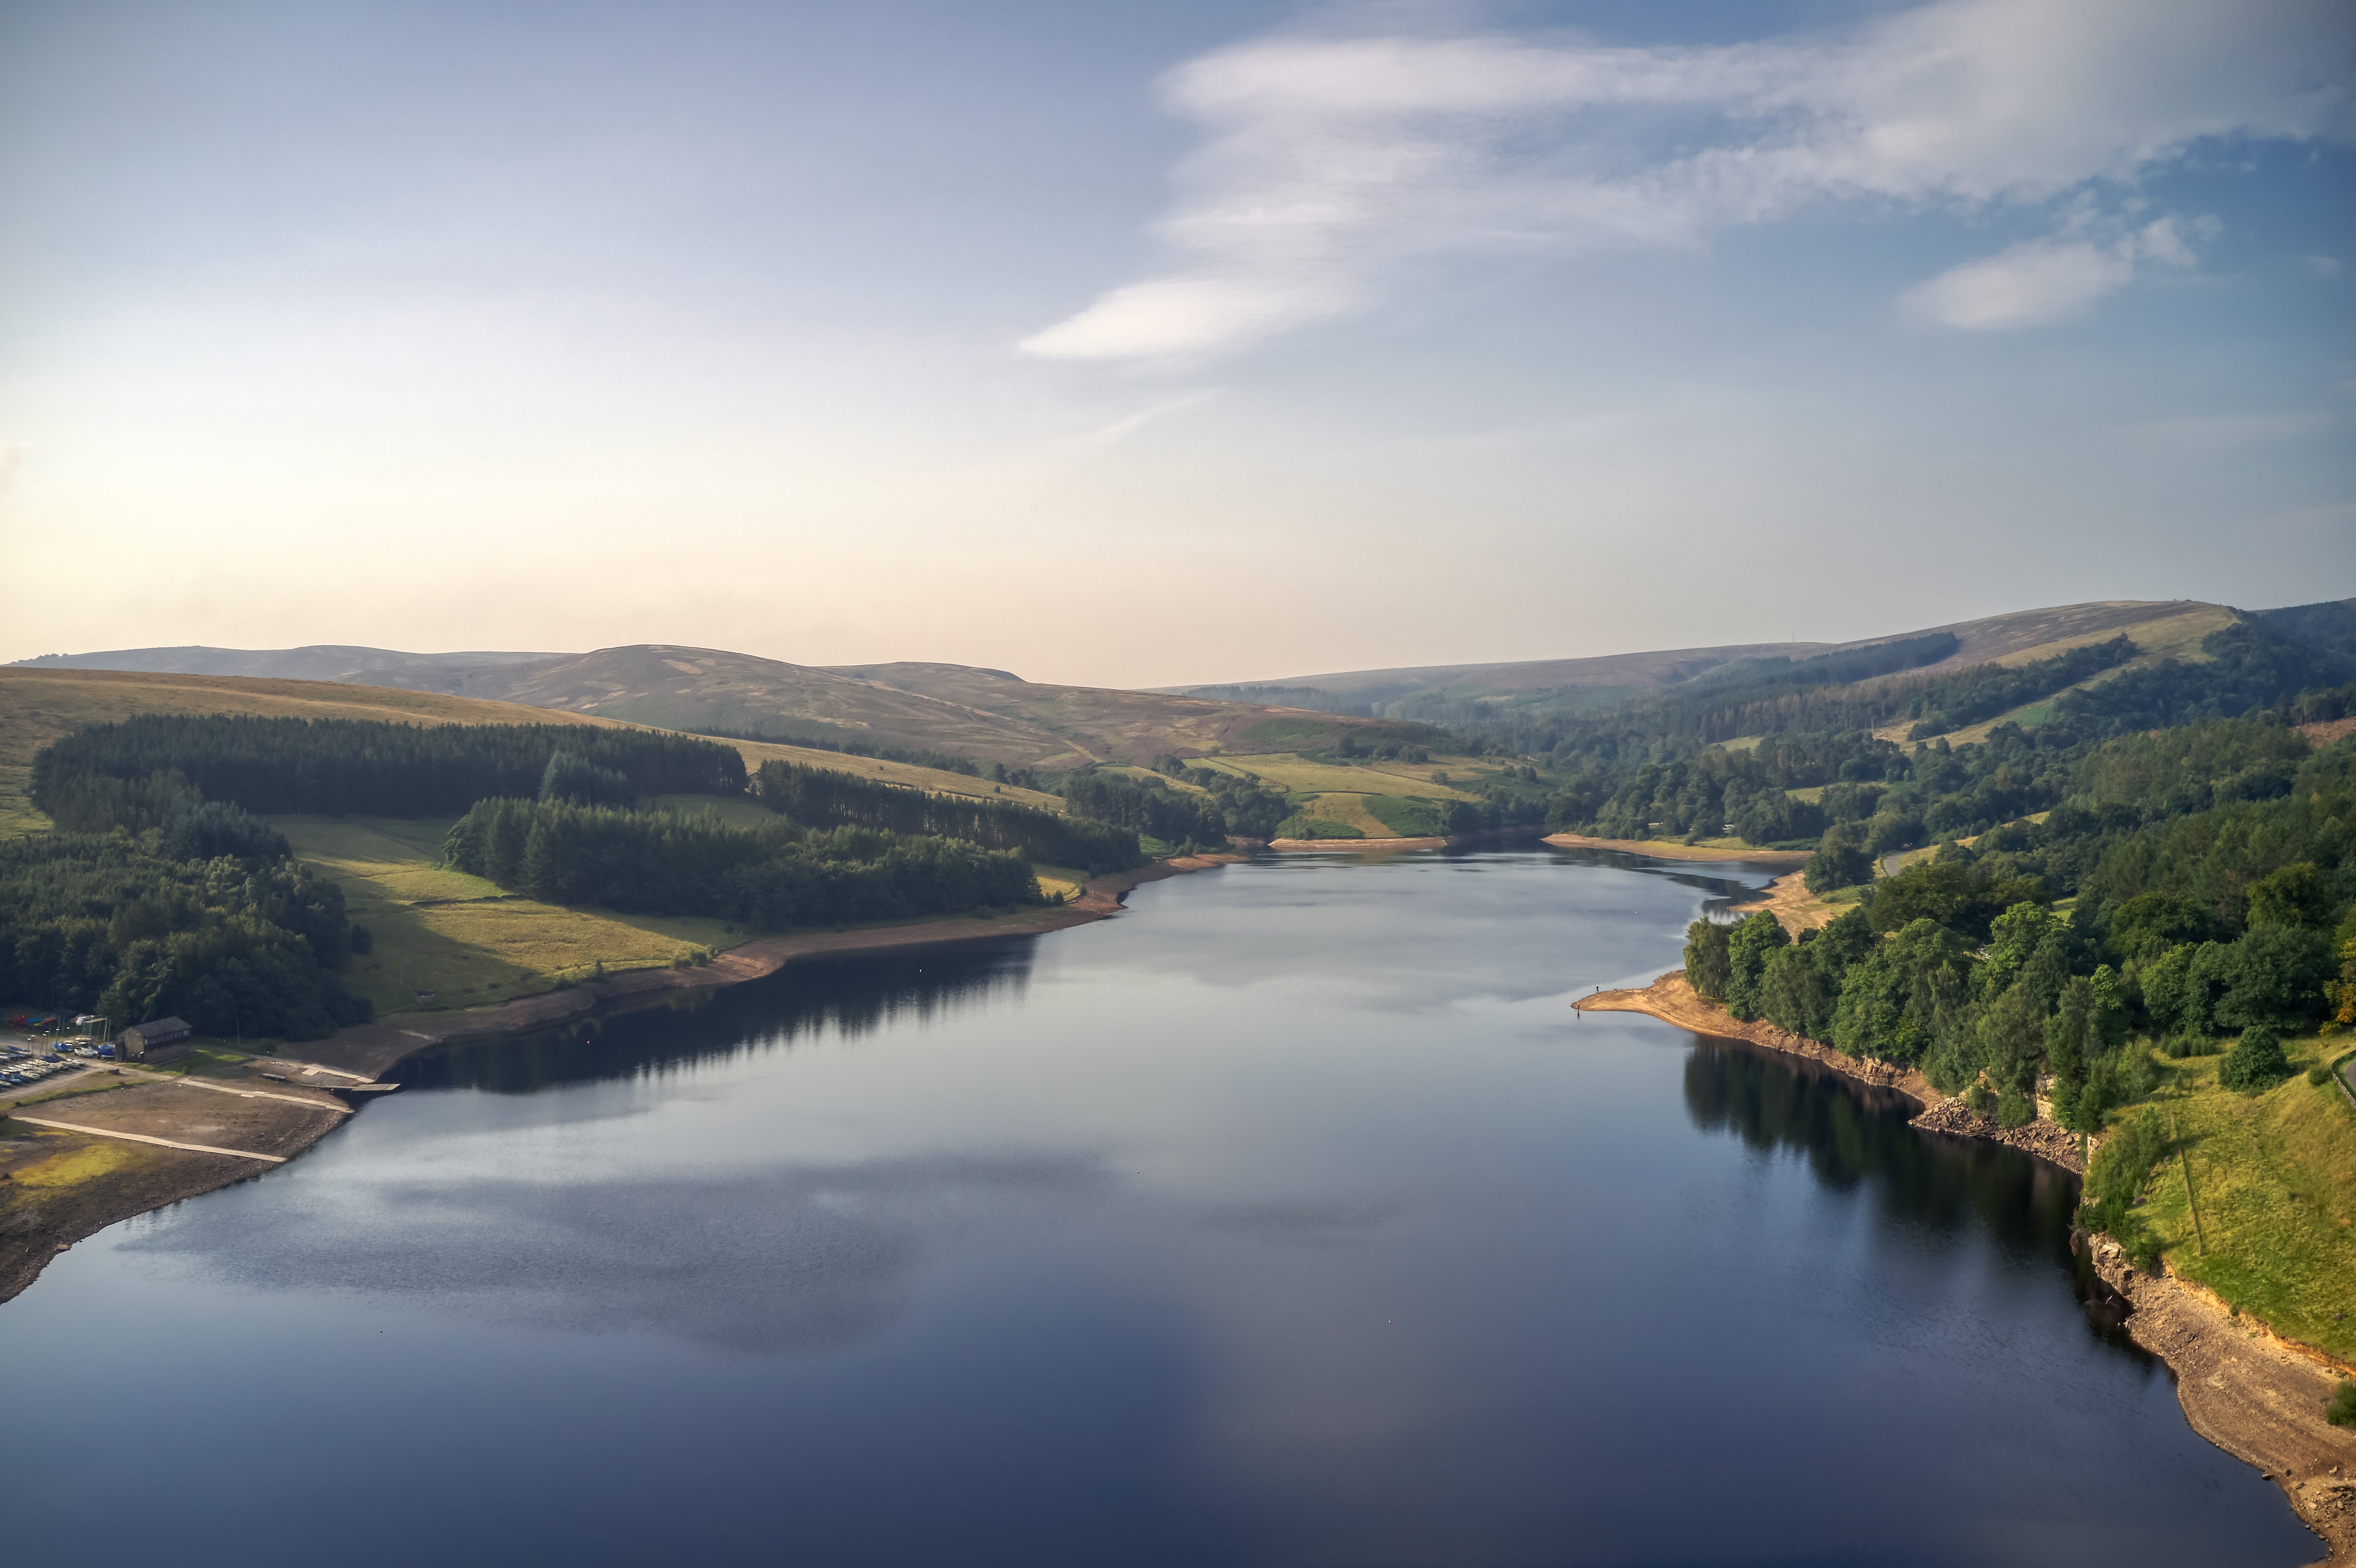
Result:
<svg viewBox="0 0 2356 1568">
<path fill-rule="evenodd" d="M 0 5 L 0 659 L 2356 593 L 2344 0 Z"/>
</svg>

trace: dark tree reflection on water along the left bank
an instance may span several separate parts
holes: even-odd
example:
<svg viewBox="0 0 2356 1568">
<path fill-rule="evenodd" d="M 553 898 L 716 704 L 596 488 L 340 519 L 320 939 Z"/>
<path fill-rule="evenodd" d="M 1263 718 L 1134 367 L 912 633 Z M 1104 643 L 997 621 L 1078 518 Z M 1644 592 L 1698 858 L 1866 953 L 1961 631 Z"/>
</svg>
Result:
<svg viewBox="0 0 2356 1568">
<path fill-rule="evenodd" d="M 401 1062 L 386 1078 L 408 1088 L 530 1095 L 563 1083 L 726 1062 L 825 1034 L 860 1038 L 888 1026 L 924 1026 L 971 1008 L 1020 1001 L 1034 944 L 1034 937 L 1006 937 L 789 963 L 763 979 L 679 991 L 558 1029 L 455 1041 Z"/>
</svg>

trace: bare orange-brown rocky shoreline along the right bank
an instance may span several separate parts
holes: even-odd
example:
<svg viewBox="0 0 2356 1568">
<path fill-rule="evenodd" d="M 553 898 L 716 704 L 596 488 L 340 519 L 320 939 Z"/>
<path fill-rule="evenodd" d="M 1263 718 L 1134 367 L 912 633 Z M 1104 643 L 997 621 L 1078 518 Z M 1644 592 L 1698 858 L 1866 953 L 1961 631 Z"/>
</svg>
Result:
<svg viewBox="0 0 2356 1568">
<path fill-rule="evenodd" d="M 2000 1142 L 2076 1177 L 2085 1175 L 2076 1140 L 2043 1116 L 2026 1128 L 1998 1128 L 1913 1069 L 1859 1062 L 1824 1041 L 1739 1019 L 1694 996 L 1682 970 L 1642 989 L 1581 996 L 1571 1008 L 1642 1012 L 1718 1041 L 1807 1057 L 1857 1083 L 1906 1095 L 1920 1107 L 1908 1125 L 1922 1132 Z M 2168 1271 L 2165 1262 L 2156 1274 L 2137 1271 L 2109 1236 L 2071 1231 L 2071 1250 L 2092 1253 L 2094 1274 L 2125 1300 L 2127 1337 L 2168 1368 L 2186 1424 L 2274 1481 L 2292 1516 L 2323 1540 L 2328 1552 L 2311 1568 L 2356 1566 L 2356 1431 L 2323 1420 L 2332 1384 L 2340 1375 L 2356 1375 L 2356 1368 L 2311 1344 L 2285 1340 L 2257 1318 L 2233 1316 L 2210 1290 Z"/>
</svg>

